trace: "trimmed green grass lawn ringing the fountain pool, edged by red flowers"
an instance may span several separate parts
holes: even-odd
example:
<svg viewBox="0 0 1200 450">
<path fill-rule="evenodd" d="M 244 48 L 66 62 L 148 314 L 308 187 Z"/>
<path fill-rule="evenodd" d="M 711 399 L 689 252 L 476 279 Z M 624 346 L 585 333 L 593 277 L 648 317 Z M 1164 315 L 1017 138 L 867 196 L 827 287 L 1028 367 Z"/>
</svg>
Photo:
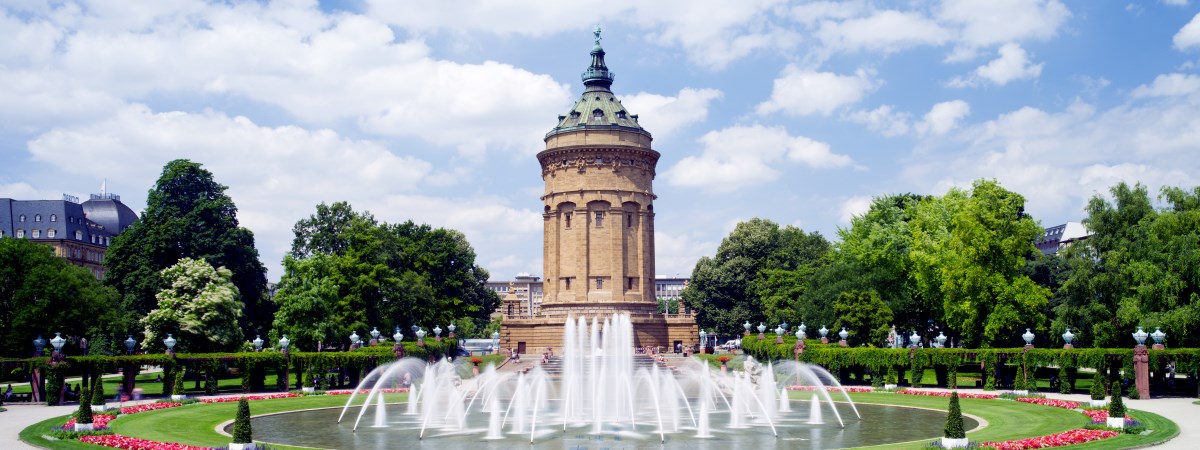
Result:
<svg viewBox="0 0 1200 450">
<path fill-rule="evenodd" d="M 806 392 L 791 392 L 802 397 Z M 851 394 L 859 403 L 882 403 L 920 408 L 946 409 L 944 397 L 908 396 L 895 394 Z M 361 398 L 361 397 L 360 397 Z M 388 402 L 401 402 L 406 394 L 389 395 Z M 346 396 L 308 396 L 300 398 L 282 398 L 256 401 L 251 403 L 254 415 L 295 409 L 340 407 L 346 404 Z M 355 402 L 358 403 L 358 401 Z M 1003 400 L 962 398 L 962 412 L 982 418 L 988 426 L 967 433 L 972 442 L 995 442 L 1020 439 L 1034 436 L 1046 436 L 1074 430 L 1087 422 L 1087 418 L 1078 412 L 1038 404 L 1027 404 Z M 120 418 L 112 422 L 113 431 L 124 436 L 134 436 L 157 442 L 176 442 L 191 445 L 227 445 L 229 438 L 215 431 L 221 422 L 233 419 L 236 403 L 190 404 L 180 408 L 139 413 Z M 1102 442 L 1075 445 L 1072 448 L 1117 449 L 1152 445 L 1178 434 L 1178 427 L 1163 416 L 1132 410 L 1130 415 L 1145 422 L 1153 432 L 1146 436 L 1122 434 Z M 52 425 L 60 425 L 66 418 L 50 419 L 29 428 L 20 437 L 34 445 L 49 449 L 95 449 L 96 446 L 78 442 L 46 440 L 41 434 Z M 871 449 L 917 449 L 932 442 L 912 442 L 872 446 Z M 286 446 L 284 446 L 286 448 Z"/>
</svg>

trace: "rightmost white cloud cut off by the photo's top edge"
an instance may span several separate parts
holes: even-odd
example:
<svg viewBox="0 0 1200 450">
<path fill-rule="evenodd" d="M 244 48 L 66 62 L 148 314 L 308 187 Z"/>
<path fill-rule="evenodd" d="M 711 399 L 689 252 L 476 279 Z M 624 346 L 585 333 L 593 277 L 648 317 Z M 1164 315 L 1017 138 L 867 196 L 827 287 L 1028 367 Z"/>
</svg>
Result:
<svg viewBox="0 0 1200 450">
<path fill-rule="evenodd" d="M 948 56 L 960 61 L 973 58 L 980 47 L 1051 38 L 1070 11 L 1057 0 L 949 0 L 942 2 L 937 17 L 960 28 L 959 48 Z"/>
</svg>

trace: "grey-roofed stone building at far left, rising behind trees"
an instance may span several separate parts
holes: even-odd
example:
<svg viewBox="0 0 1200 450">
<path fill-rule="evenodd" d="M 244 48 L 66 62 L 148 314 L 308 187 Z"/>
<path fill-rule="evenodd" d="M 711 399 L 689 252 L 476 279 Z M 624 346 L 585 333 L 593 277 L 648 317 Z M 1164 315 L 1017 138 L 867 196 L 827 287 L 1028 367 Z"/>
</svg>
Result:
<svg viewBox="0 0 1200 450">
<path fill-rule="evenodd" d="M 0 238 L 47 244 L 96 278 L 104 277 L 104 253 L 113 238 L 137 218 L 120 196 L 110 193 L 92 194 L 84 203 L 72 196 L 61 200 L 0 198 Z"/>
</svg>

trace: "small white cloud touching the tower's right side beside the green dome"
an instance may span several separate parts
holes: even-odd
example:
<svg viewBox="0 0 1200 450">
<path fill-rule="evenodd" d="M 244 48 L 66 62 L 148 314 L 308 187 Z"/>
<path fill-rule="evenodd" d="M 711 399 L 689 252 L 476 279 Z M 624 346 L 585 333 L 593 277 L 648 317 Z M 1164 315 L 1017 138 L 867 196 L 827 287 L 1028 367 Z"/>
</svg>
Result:
<svg viewBox="0 0 1200 450">
<path fill-rule="evenodd" d="M 658 94 L 637 92 L 620 98 L 630 114 L 638 115 L 638 124 L 662 138 L 691 124 L 708 119 L 708 103 L 721 98 L 716 89 L 684 88 L 674 97 Z"/>
</svg>

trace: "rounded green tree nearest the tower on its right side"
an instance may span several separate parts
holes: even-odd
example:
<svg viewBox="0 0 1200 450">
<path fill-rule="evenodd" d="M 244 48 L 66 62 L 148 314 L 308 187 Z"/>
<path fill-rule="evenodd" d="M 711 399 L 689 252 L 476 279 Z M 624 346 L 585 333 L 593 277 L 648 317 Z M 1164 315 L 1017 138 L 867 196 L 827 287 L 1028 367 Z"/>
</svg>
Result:
<svg viewBox="0 0 1200 450">
<path fill-rule="evenodd" d="M 701 328 L 721 334 L 740 332 L 744 320 L 796 322 L 797 293 L 829 250 L 817 233 L 762 218 L 738 223 L 714 257 L 696 263 L 683 302 Z"/>
</svg>

